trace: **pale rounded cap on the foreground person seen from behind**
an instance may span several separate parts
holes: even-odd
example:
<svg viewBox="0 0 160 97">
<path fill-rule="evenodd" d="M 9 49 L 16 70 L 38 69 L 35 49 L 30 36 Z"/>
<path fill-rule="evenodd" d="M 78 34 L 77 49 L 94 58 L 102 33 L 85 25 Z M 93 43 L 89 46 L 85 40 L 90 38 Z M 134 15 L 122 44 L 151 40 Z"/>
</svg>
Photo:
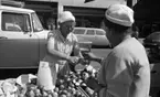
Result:
<svg viewBox="0 0 160 97">
<path fill-rule="evenodd" d="M 105 17 L 108 21 L 124 26 L 131 26 L 135 22 L 132 9 L 125 4 L 110 6 Z"/>
</svg>

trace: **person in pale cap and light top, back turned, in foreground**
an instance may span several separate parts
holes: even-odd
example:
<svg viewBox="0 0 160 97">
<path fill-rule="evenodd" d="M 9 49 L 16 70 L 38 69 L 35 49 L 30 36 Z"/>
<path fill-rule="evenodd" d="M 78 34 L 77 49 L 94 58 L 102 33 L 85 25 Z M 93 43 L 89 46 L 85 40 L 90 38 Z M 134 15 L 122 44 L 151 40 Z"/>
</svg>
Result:
<svg viewBox="0 0 160 97">
<path fill-rule="evenodd" d="M 99 97 L 149 97 L 149 61 L 143 45 L 131 36 L 134 11 L 125 4 L 113 4 L 105 13 L 104 24 L 114 48 L 105 60 L 86 54 L 86 58 L 102 62 L 98 80 L 89 78 L 87 85 Z"/>
</svg>

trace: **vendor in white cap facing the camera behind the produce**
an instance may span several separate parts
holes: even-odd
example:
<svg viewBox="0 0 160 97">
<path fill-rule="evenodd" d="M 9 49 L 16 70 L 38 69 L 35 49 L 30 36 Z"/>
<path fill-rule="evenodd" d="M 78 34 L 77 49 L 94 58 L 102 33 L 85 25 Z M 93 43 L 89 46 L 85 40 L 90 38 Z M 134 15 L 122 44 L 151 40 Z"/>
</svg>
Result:
<svg viewBox="0 0 160 97">
<path fill-rule="evenodd" d="M 47 54 L 44 57 L 44 61 L 49 62 L 54 69 L 54 83 L 57 73 L 66 75 L 70 71 L 68 63 L 72 65 L 78 63 L 81 56 L 77 39 L 71 33 L 75 26 L 75 17 L 70 11 L 64 11 L 60 13 L 57 22 L 60 28 L 49 34 Z M 72 52 L 75 56 L 71 56 Z"/>
</svg>

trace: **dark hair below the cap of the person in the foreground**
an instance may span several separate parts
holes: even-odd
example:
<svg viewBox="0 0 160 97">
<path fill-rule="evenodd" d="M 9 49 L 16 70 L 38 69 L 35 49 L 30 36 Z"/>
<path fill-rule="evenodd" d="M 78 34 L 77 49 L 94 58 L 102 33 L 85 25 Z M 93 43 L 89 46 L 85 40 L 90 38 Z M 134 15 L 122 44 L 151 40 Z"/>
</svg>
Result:
<svg viewBox="0 0 160 97">
<path fill-rule="evenodd" d="M 130 26 L 124 26 L 124 25 L 113 23 L 113 22 L 108 21 L 106 18 L 104 19 L 104 23 L 108 29 L 113 29 L 119 33 L 126 32 L 128 29 L 130 29 Z"/>
</svg>

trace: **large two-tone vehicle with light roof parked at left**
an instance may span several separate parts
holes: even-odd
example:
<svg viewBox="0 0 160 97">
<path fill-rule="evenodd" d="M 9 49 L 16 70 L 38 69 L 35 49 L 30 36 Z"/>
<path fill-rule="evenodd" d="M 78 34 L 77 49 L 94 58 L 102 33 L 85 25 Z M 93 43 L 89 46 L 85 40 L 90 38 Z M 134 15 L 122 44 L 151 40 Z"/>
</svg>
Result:
<svg viewBox="0 0 160 97">
<path fill-rule="evenodd" d="M 0 69 L 38 68 L 46 53 L 49 33 L 35 11 L 0 6 Z M 90 48 L 90 43 L 79 43 Z"/>
</svg>

